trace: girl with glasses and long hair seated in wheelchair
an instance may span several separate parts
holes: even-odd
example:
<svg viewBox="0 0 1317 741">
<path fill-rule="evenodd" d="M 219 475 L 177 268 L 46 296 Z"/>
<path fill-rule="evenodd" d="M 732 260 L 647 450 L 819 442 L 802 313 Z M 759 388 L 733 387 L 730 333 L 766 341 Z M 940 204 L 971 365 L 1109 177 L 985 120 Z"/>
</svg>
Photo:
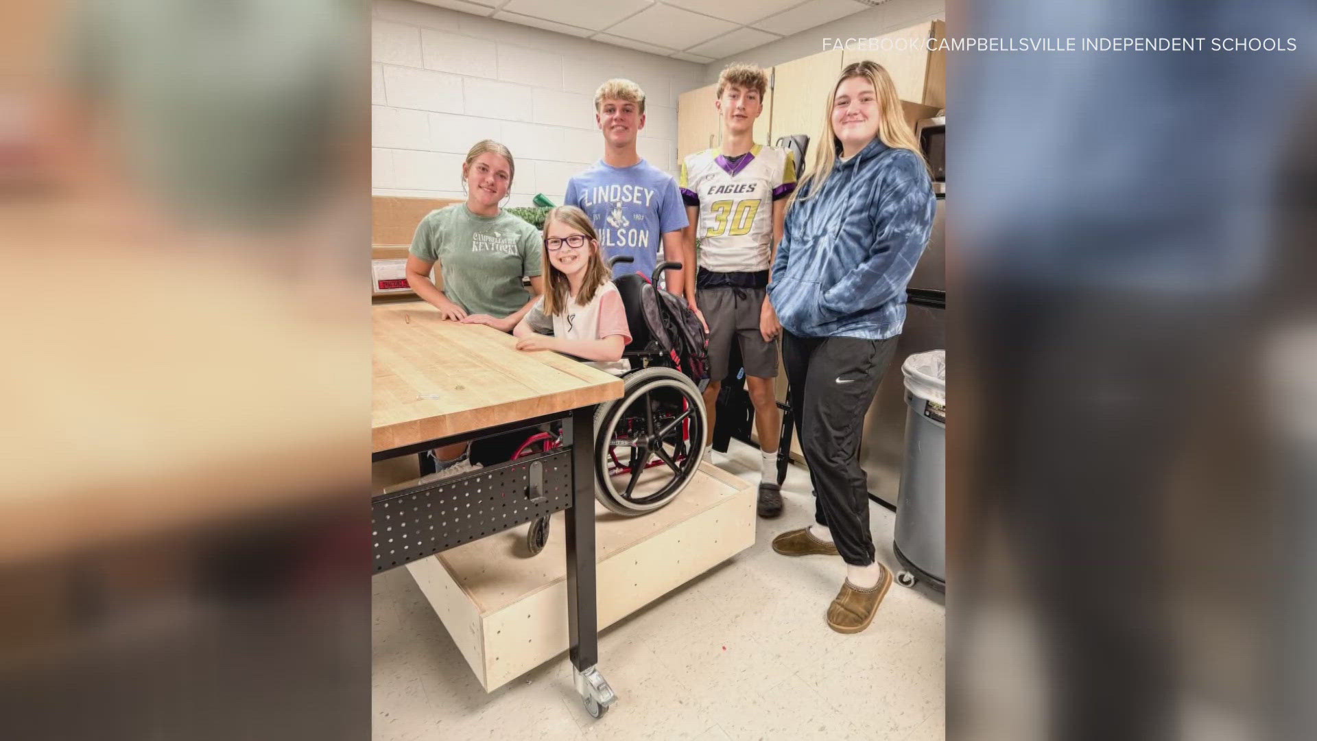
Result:
<svg viewBox="0 0 1317 741">
<path fill-rule="evenodd" d="M 560 206 L 544 218 L 544 294 L 512 328 L 516 348 L 552 349 L 622 376 L 631 343 L 622 294 L 583 211 Z"/>
</svg>

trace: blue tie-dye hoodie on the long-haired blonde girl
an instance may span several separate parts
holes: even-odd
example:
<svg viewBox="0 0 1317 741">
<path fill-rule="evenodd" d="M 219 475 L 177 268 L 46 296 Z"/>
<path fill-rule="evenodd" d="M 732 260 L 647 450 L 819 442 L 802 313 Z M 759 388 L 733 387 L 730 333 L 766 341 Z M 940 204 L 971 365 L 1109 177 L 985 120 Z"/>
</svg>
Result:
<svg viewBox="0 0 1317 741">
<path fill-rule="evenodd" d="M 802 338 L 900 334 L 936 206 L 923 162 L 874 138 L 813 190 L 786 212 L 768 285 L 782 327 Z"/>
</svg>

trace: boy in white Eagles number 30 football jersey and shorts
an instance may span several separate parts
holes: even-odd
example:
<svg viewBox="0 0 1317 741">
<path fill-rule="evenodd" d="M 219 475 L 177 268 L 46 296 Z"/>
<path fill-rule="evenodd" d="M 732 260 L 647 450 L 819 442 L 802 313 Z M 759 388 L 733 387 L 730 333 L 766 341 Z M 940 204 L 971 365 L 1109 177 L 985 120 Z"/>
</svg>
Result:
<svg viewBox="0 0 1317 741">
<path fill-rule="evenodd" d="M 686 301 L 709 327 L 709 435 L 714 407 L 728 372 L 732 343 L 740 347 L 745 386 L 755 405 L 755 429 L 763 454 L 759 484 L 760 517 L 782 512 L 777 484 L 777 440 L 781 415 L 777 336 L 782 326 L 765 295 L 768 270 L 782 239 L 786 196 L 795 189 L 792 153 L 755 144 L 755 119 L 764 111 L 768 75 L 753 65 L 732 65 L 718 78 L 714 105 L 722 119 L 720 148 L 689 154 L 681 163 L 686 231 Z M 699 237 L 699 254 L 695 254 Z"/>
</svg>

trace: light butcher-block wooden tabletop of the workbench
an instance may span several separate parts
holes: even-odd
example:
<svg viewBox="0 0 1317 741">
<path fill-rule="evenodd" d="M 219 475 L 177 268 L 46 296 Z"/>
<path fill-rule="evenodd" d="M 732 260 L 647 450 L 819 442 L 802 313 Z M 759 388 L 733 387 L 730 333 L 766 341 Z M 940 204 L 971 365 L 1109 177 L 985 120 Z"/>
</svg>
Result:
<svg viewBox="0 0 1317 741">
<path fill-rule="evenodd" d="M 622 378 L 425 302 L 374 314 L 371 450 L 378 452 L 622 398 Z"/>
</svg>

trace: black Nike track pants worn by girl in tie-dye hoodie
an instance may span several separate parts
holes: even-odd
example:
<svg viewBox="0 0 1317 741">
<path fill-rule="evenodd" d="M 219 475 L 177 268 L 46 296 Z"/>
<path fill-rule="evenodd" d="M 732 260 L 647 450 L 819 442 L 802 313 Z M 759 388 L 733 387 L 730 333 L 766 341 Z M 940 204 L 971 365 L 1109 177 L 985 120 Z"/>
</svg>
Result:
<svg viewBox="0 0 1317 741">
<path fill-rule="evenodd" d="M 782 332 L 792 414 L 814 484 L 814 519 L 832 531 L 836 550 L 851 566 L 873 563 L 860 435 L 896 348 L 897 338 L 798 338 Z"/>
</svg>

